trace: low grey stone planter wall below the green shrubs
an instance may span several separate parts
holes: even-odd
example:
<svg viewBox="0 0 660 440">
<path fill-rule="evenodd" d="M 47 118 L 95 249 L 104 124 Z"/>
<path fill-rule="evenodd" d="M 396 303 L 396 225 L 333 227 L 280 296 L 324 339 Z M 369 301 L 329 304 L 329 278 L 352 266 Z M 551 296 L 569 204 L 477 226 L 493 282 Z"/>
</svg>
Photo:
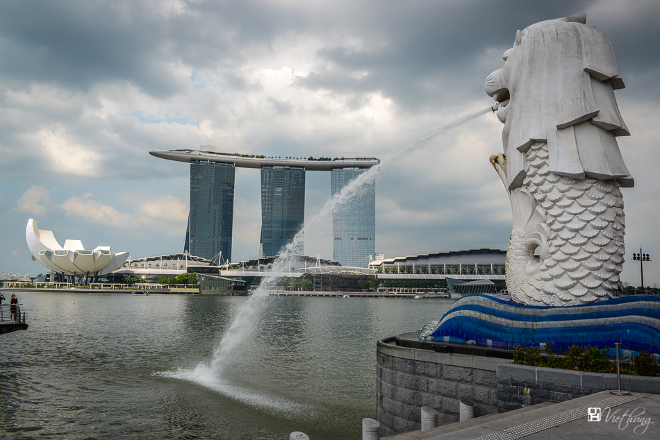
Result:
<svg viewBox="0 0 660 440">
<path fill-rule="evenodd" d="M 629 375 L 621 378 L 622 390 L 660 394 L 660 378 Z M 563 402 L 617 388 L 616 374 L 503 363 L 497 366 L 497 412 L 550 400 Z"/>
</svg>

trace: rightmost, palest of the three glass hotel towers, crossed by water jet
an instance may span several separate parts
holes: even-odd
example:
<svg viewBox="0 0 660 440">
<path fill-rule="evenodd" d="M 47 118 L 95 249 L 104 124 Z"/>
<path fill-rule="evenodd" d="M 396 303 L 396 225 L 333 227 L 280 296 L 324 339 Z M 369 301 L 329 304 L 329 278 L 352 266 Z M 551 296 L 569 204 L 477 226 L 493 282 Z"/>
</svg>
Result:
<svg viewBox="0 0 660 440">
<path fill-rule="evenodd" d="M 334 197 L 366 169 L 341 168 L 330 171 Z M 371 180 L 349 201 L 332 210 L 333 255 L 342 266 L 367 267 L 376 253 L 376 182 Z"/>
</svg>

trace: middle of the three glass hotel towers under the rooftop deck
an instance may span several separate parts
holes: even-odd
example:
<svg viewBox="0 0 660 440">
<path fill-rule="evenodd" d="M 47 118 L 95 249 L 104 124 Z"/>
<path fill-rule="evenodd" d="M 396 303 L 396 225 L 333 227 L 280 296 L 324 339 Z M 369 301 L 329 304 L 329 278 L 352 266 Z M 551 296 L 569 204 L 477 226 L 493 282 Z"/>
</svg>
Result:
<svg viewBox="0 0 660 440">
<path fill-rule="evenodd" d="M 261 169 L 261 242 L 259 257 L 274 257 L 302 228 L 305 221 L 305 169 Z M 294 253 L 303 253 L 303 243 Z"/>
</svg>

